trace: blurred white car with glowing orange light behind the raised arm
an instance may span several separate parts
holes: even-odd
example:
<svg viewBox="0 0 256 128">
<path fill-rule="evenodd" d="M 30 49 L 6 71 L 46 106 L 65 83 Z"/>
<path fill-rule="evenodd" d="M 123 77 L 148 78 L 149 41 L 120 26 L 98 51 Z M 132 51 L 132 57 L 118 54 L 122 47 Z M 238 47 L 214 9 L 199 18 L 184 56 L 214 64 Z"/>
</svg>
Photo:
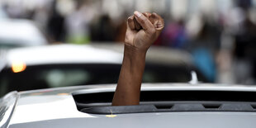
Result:
<svg viewBox="0 0 256 128">
<path fill-rule="evenodd" d="M 117 83 L 122 49 L 122 45 L 48 45 L 9 50 L 0 72 L 0 92 Z M 201 82 L 208 82 L 186 52 L 152 47 L 143 81 L 188 82 L 192 71 Z"/>
</svg>

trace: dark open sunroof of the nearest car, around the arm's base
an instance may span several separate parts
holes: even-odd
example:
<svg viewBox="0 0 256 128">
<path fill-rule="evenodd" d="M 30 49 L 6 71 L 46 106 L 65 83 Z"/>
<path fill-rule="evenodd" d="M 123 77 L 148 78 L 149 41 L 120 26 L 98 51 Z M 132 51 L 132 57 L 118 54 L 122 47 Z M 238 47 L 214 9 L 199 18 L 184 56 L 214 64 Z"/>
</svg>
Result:
<svg viewBox="0 0 256 128">
<path fill-rule="evenodd" d="M 256 92 L 142 91 L 140 105 L 111 107 L 114 92 L 73 93 L 78 111 L 128 113 L 150 111 L 256 111 Z M 141 109 L 143 107 L 143 109 Z M 113 110 L 112 110 L 113 109 Z M 119 110 L 121 109 L 121 110 Z M 101 112 L 98 112 L 101 111 Z M 111 113 L 110 113 L 111 114 Z"/>
</svg>

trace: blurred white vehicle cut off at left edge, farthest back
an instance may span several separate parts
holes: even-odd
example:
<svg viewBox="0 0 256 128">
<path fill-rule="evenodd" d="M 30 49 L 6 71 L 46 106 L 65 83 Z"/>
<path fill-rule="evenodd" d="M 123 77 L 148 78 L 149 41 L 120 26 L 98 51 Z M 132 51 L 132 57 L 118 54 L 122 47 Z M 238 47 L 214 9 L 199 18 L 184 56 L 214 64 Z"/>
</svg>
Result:
<svg viewBox="0 0 256 128">
<path fill-rule="evenodd" d="M 0 50 L 48 44 L 48 40 L 33 21 L 0 19 L 0 28 Z"/>
</svg>

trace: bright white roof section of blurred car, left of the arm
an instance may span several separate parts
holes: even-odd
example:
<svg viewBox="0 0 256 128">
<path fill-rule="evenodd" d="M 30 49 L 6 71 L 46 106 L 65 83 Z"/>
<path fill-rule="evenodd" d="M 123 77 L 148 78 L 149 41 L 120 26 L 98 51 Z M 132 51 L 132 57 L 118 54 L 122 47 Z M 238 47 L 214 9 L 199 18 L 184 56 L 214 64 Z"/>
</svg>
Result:
<svg viewBox="0 0 256 128">
<path fill-rule="evenodd" d="M 7 53 L 7 66 L 36 64 L 121 64 L 122 54 L 91 45 L 45 45 L 17 48 Z"/>
</svg>

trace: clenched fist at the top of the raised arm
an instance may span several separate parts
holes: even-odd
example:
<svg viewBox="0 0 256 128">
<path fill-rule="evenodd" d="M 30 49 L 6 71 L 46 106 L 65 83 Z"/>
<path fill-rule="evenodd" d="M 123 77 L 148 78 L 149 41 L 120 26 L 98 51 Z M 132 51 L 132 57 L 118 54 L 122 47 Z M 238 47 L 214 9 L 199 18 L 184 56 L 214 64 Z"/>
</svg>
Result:
<svg viewBox="0 0 256 128">
<path fill-rule="evenodd" d="M 163 29 L 164 19 L 158 14 L 149 12 L 142 14 L 135 11 L 127 20 L 126 47 L 146 52 Z"/>
</svg>

